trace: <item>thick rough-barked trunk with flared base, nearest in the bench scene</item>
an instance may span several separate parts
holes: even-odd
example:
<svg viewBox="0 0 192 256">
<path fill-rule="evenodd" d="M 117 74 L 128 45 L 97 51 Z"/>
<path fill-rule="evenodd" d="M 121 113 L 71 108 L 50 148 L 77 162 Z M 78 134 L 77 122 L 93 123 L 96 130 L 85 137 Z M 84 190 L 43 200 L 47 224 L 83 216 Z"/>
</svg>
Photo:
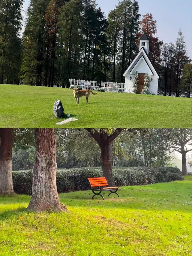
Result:
<svg viewBox="0 0 192 256">
<path fill-rule="evenodd" d="M 36 158 L 33 169 L 32 198 L 29 211 L 64 211 L 56 186 L 56 139 L 54 129 L 36 129 Z"/>
</svg>

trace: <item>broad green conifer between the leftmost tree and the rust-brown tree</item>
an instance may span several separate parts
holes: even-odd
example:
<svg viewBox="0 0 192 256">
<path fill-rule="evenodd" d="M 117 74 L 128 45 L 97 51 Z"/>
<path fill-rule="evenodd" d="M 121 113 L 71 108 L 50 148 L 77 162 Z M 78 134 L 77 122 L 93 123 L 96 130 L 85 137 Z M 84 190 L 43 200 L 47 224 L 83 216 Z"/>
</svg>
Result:
<svg viewBox="0 0 192 256">
<path fill-rule="evenodd" d="M 23 35 L 21 78 L 30 85 L 44 84 L 46 51 L 45 14 L 49 0 L 31 0 Z"/>
</svg>

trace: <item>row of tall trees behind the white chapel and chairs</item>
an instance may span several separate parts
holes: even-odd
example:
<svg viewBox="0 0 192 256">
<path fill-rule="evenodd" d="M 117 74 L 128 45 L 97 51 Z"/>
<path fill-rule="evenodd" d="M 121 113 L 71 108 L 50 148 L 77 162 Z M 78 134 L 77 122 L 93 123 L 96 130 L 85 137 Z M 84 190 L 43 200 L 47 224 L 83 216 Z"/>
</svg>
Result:
<svg viewBox="0 0 192 256">
<path fill-rule="evenodd" d="M 149 57 L 160 73 L 160 94 L 192 91 L 184 36 L 163 44 L 152 14 L 123 0 L 106 19 L 95 0 L 31 0 L 20 38 L 23 0 L 0 2 L 0 83 L 69 86 L 69 78 L 124 82 L 123 73 L 150 38 Z M 167 28 L 168 29 L 168 28 Z"/>
</svg>

